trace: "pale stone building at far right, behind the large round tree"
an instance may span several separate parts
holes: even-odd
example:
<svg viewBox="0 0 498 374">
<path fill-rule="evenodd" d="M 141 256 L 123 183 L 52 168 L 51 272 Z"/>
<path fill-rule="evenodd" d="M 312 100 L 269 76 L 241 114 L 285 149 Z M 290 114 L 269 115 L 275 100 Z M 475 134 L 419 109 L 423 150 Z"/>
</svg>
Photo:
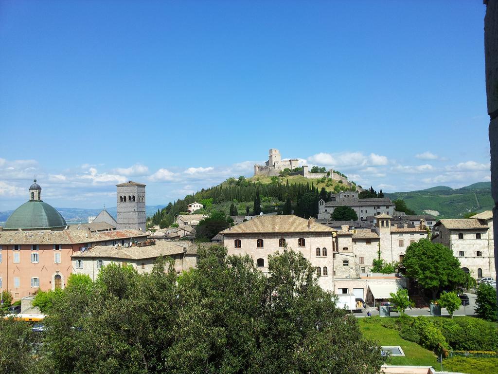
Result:
<svg viewBox="0 0 498 374">
<path fill-rule="evenodd" d="M 484 211 L 471 218 L 441 219 L 433 228 L 432 241 L 449 247 L 462 269 L 474 278 L 496 279 L 493 212 Z"/>
</svg>

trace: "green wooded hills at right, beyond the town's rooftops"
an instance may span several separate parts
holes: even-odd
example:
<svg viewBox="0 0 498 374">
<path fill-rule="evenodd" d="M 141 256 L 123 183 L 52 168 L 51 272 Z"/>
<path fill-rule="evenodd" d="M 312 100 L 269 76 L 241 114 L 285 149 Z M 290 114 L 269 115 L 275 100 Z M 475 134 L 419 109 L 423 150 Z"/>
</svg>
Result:
<svg viewBox="0 0 498 374">
<path fill-rule="evenodd" d="M 493 209 L 491 182 L 479 182 L 462 188 L 437 186 L 419 191 L 385 193 L 391 200 L 402 198 L 417 214 L 438 218 L 461 218 L 468 212 Z"/>
</svg>

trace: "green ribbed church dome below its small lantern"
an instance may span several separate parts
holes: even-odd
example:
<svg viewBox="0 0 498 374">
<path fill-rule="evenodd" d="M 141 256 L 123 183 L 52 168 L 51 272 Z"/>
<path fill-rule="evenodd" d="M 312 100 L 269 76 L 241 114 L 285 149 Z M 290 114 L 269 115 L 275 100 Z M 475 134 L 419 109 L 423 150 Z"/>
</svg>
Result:
<svg viewBox="0 0 498 374">
<path fill-rule="evenodd" d="M 66 225 L 66 220 L 54 207 L 41 200 L 31 200 L 15 209 L 3 228 L 53 230 L 63 229 Z"/>
</svg>

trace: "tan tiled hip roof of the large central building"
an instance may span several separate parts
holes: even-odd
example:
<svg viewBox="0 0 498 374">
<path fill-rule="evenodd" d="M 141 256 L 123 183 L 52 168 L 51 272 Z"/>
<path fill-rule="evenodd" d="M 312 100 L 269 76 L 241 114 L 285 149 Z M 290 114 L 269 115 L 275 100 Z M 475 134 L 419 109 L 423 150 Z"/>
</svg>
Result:
<svg viewBox="0 0 498 374">
<path fill-rule="evenodd" d="M 308 225 L 309 224 L 309 225 Z M 335 229 L 296 215 L 263 215 L 221 231 L 221 234 L 263 232 L 334 232 Z"/>
</svg>

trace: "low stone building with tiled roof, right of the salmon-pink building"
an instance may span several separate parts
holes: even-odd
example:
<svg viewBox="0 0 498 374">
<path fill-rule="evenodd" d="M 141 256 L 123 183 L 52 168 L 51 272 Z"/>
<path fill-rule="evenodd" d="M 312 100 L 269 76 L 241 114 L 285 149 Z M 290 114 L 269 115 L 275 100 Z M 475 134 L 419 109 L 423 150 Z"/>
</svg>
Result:
<svg viewBox="0 0 498 374">
<path fill-rule="evenodd" d="M 91 249 L 75 252 L 72 256 L 73 269 L 78 274 L 86 274 L 92 280 L 97 279 L 100 269 L 110 263 L 128 265 L 138 273 L 150 273 L 154 261 L 159 256 L 174 260 L 176 273 L 189 270 L 197 265 L 197 245 L 185 241 L 149 240 L 131 247 L 95 246 Z"/>
</svg>

